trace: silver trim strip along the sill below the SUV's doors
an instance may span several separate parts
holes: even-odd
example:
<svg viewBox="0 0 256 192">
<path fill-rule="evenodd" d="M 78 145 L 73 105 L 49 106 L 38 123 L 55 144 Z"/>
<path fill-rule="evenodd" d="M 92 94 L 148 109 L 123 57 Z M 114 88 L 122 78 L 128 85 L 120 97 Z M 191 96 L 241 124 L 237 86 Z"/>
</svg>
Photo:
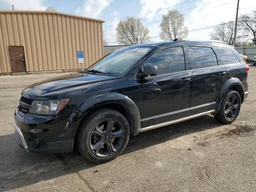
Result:
<svg viewBox="0 0 256 192">
<path fill-rule="evenodd" d="M 186 120 L 196 118 L 196 117 L 199 117 L 199 116 L 203 116 L 203 115 L 213 113 L 213 112 L 215 112 L 215 109 L 210 110 L 210 111 L 206 111 L 206 112 L 203 112 L 203 113 L 198 113 L 198 114 L 195 114 L 195 115 L 191 115 L 191 116 L 188 116 L 188 117 L 180 118 L 180 119 L 176 119 L 176 120 L 172 120 L 172 121 L 168 121 L 168 122 L 164 122 L 164 123 L 160 123 L 160 124 L 156 124 L 156 125 L 151 125 L 151 126 L 148 126 L 148 127 L 141 128 L 140 132 L 156 129 L 156 128 L 159 128 L 159 127 L 171 125 L 171 124 L 182 122 L 182 121 L 186 121 Z"/>
</svg>

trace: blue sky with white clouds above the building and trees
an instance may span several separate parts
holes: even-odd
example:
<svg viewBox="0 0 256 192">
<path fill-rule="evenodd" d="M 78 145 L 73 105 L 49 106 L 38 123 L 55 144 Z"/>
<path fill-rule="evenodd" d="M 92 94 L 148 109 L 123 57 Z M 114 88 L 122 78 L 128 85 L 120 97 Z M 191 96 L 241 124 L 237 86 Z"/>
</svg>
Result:
<svg viewBox="0 0 256 192">
<path fill-rule="evenodd" d="M 11 10 L 12 4 L 14 10 L 46 10 L 54 6 L 58 12 L 105 20 L 104 40 L 118 45 L 115 28 L 127 16 L 141 19 L 150 30 L 152 42 L 162 41 L 162 15 L 173 9 L 184 15 L 188 38 L 209 39 L 213 28 L 207 27 L 235 20 L 237 0 L 0 0 L 0 10 Z M 252 14 L 252 10 L 256 10 L 255 0 L 240 0 L 239 15 Z"/>
</svg>

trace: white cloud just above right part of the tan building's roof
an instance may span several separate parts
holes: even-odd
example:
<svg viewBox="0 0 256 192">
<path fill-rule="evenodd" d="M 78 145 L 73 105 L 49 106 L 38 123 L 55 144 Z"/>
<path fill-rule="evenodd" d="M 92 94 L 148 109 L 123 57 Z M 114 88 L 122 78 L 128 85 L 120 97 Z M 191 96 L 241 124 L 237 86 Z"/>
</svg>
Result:
<svg viewBox="0 0 256 192">
<path fill-rule="evenodd" d="M 80 16 L 98 18 L 102 10 L 107 8 L 113 0 L 85 0 L 82 6 L 76 9 L 76 14 Z"/>
</svg>

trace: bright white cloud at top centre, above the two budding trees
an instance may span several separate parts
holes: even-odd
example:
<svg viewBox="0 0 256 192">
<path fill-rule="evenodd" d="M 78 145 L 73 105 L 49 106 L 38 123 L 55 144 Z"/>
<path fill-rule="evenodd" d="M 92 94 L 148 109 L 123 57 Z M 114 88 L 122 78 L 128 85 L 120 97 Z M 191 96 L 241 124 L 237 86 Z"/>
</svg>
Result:
<svg viewBox="0 0 256 192">
<path fill-rule="evenodd" d="M 166 14 L 168 10 L 172 9 L 172 6 L 175 6 L 180 1 L 181 0 L 140 0 L 140 4 L 142 4 L 140 14 L 143 14 L 141 17 L 145 17 L 148 19 L 148 21 L 150 21 L 152 20 L 152 17 L 162 16 L 163 14 Z M 166 9 L 169 7 L 170 9 Z"/>
</svg>

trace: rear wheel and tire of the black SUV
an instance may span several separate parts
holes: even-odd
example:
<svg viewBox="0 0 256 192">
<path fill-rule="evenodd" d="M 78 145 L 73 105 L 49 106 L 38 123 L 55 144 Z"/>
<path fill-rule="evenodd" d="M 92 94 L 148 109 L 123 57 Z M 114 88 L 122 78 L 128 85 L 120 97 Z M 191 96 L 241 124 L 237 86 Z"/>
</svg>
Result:
<svg viewBox="0 0 256 192">
<path fill-rule="evenodd" d="M 220 106 L 220 111 L 214 117 L 221 123 L 230 124 L 236 120 L 240 112 L 240 108 L 240 95 L 235 90 L 228 90 Z"/>
</svg>

